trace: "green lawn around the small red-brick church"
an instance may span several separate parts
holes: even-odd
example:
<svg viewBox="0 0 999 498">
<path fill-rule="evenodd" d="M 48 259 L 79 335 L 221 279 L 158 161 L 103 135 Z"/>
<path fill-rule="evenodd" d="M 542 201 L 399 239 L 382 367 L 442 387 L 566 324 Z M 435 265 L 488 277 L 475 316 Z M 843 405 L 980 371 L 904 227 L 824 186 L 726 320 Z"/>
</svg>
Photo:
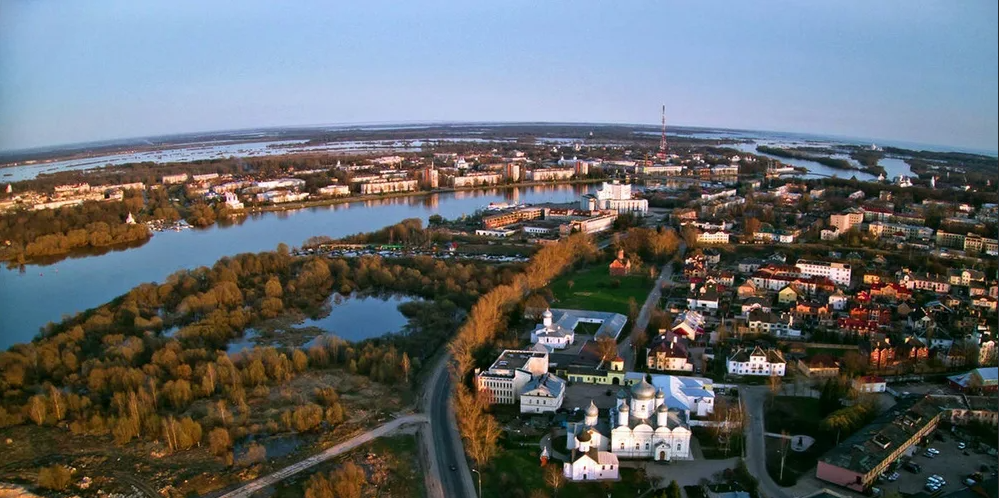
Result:
<svg viewBox="0 0 999 498">
<path fill-rule="evenodd" d="M 573 282 L 569 288 L 569 281 Z M 615 286 L 613 281 L 620 282 Z M 647 275 L 611 277 L 606 265 L 593 266 L 569 273 L 548 287 L 555 302 L 553 308 L 610 311 L 628 314 L 628 300 L 634 298 L 639 307 L 645 303 L 653 283 Z"/>
</svg>

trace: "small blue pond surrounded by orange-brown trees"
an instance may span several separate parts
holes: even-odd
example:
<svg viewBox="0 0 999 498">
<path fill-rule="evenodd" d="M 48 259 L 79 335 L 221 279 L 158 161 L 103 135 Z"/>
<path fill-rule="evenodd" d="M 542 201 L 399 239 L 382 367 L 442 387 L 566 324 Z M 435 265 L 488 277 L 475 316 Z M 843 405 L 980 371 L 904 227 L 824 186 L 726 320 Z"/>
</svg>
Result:
<svg viewBox="0 0 999 498">
<path fill-rule="evenodd" d="M 296 327 L 316 327 L 341 339 L 357 342 L 372 337 L 399 332 L 409 319 L 399 311 L 399 305 L 417 300 L 410 296 L 360 296 L 334 294 L 330 298 L 329 315 L 313 320 L 307 318 Z M 311 346 L 315 339 L 309 341 Z"/>
</svg>

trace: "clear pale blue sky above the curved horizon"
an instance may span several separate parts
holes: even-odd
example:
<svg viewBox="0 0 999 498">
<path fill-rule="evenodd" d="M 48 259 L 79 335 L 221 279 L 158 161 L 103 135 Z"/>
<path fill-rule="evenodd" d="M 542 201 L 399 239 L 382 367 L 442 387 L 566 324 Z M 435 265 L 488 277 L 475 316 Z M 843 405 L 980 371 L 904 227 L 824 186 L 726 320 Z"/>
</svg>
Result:
<svg viewBox="0 0 999 498">
<path fill-rule="evenodd" d="M 669 124 L 999 149 L 995 0 L 0 0 L 0 150 L 254 127 Z"/>
</svg>

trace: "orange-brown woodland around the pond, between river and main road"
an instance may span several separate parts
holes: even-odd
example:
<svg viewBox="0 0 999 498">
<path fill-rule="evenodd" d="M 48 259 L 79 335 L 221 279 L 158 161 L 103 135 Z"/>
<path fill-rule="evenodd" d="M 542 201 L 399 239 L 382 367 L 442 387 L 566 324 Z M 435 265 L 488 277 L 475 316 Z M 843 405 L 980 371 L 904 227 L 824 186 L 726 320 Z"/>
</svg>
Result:
<svg viewBox="0 0 999 498">
<path fill-rule="evenodd" d="M 346 371 L 407 392 L 468 310 L 497 286 L 522 279 L 522 270 L 430 257 L 299 258 L 281 245 L 179 271 L 0 353 L 0 429 L 66 430 L 98 446 L 158 442 L 168 453 L 203 446 L 238 463 L 233 445 L 248 431 L 309 432 L 344 421 L 332 387 L 308 392 L 304 401 L 295 396 L 261 419 L 250 406 L 272 387 L 286 389 L 310 372 Z M 329 336 L 308 349 L 225 351 L 248 327 L 289 312 L 315 316 L 334 292 L 355 291 L 424 301 L 401 307 L 410 322 L 398 334 L 358 343 Z"/>
</svg>

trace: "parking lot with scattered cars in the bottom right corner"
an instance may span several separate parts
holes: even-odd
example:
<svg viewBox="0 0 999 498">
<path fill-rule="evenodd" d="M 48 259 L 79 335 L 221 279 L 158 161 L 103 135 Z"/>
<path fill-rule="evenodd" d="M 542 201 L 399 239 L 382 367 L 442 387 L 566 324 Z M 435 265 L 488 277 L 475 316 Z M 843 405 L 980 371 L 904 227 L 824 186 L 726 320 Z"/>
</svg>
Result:
<svg viewBox="0 0 999 498">
<path fill-rule="evenodd" d="M 899 466 L 897 470 L 899 478 L 897 481 L 883 481 L 878 483 L 877 486 L 885 493 L 896 490 L 902 493 L 925 492 L 923 486 L 926 485 L 926 478 L 935 474 L 947 481 L 947 485 L 941 487 L 940 491 L 942 493 L 950 493 L 964 488 L 964 478 L 968 474 L 978 472 L 982 464 L 988 465 L 990 469 L 988 472 L 982 473 L 986 478 L 991 475 L 994 466 L 997 464 L 996 457 L 985 453 L 976 453 L 975 451 L 968 450 L 968 455 L 964 455 L 964 451 L 957 448 L 957 441 L 950 437 L 946 441 L 934 440 L 930 443 L 929 447 L 939 450 L 940 454 L 935 458 L 928 458 L 923 456 L 925 448 L 919 448 L 911 459 L 913 463 L 922 467 L 922 472 L 913 474 Z"/>
</svg>

